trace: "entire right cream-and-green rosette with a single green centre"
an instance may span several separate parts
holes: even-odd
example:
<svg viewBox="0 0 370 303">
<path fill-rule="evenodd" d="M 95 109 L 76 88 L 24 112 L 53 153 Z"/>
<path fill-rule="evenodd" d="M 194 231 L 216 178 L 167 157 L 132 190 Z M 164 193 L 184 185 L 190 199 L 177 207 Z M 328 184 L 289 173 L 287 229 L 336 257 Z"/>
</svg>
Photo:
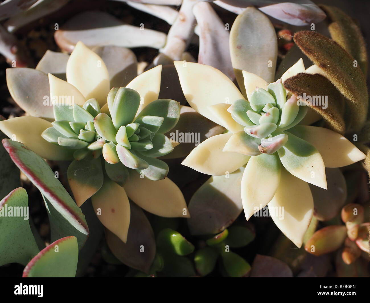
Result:
<svg viewBox="0 0 370 303">
<path fill-rule="evenodd" d="M 342 135 L 300 124 L 308 106 L 287 92 L 283 82 L 306 72 L 302 59 L 275 83 L 243 71 L 246 98 L 213 67 L 180 61 L 175 66 L 189 104 L 228 130 L 203 141 L 182 164 L 203 174 L 225 176 L 225 188 L 239 190 L 247 220 L 267 205 L 277 227 L 301 247 L 313 216 L 308 183 L 327 189 L 325 167 L 365 158 Z M 241 181 L 229 177 L 233 172 L 242 175 Z M 278 208 L 283 217 L 275 211 Z"/>
</svg>

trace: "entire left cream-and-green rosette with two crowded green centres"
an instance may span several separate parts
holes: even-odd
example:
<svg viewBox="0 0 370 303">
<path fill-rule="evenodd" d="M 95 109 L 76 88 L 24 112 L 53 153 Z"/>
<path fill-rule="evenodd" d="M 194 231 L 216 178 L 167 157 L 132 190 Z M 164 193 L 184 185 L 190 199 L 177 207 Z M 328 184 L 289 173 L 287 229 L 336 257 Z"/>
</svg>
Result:
<svg viewBox="0 0 370 303">
<path fill-rule="evenodd" d="M 7 72 L 15 101 L 37 85 L 24 84 L 14 76 L 23 71 L 30 72 Z M 32 73 L 43 81 L 46 78 L 41 71 Z M 79 42 L 68 58 L 66 77 L 64 81 L 48 74 L 52 104 L 46 102 L 48 96 L 28 103 L 19 100 L 28 114 L 43 118 L 26 115 L 4 120 L 1 131 L 44 159 L 73 160 L 67 176 L 77 205 L 91 197 L 94 209 L 101 210 L 102 224 L 123 242 L 130 223 L 128 198 L 159 216 L 188 217 L 184 196 L 166 178 L 168 165 L 157 159 L 174 149 L 164 133 L 180 115 L 178 102 L 158 100 L 161 65 L 138 75 L 126 87 L 111 88 L 102 59 Z"/>
</svg>

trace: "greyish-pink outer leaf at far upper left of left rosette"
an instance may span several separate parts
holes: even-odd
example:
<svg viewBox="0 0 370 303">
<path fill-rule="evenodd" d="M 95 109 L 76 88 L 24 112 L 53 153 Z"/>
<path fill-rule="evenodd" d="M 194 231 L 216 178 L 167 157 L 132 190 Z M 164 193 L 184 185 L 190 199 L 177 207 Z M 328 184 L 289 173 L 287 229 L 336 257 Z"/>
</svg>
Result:
<svg viewBox="0 0 370 303">
<path fill-rule="evenodd" d="M 50 96 L 46 74 L 33 68 L 7 68 L 6 83 L 11 97 L 28 114 L 54 118 L 51 102 L 44 104 L 44 96 Z"/>
</svg>

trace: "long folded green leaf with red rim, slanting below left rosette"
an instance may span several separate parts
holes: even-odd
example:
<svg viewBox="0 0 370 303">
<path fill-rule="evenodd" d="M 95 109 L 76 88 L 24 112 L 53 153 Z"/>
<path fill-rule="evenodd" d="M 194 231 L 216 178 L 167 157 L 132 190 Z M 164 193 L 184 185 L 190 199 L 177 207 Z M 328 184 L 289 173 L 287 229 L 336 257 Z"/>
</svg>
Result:
<svg viewBox="0 0 370 303">
<path fill-rule="evenodd" d="M 55 222 L 58 222 L 55 230 L 63 236 L 76 236 L 78 246 L 81 248 L 89 233 L 85 217 L 63 185 L 55 178 L 50 166 L 20 142 L 10 139 L 3 139 L 2 142 L 13 162 L 53 206 L 49 209 L 49 215 L 50 218 L 55 216 Z"/>
</svg>

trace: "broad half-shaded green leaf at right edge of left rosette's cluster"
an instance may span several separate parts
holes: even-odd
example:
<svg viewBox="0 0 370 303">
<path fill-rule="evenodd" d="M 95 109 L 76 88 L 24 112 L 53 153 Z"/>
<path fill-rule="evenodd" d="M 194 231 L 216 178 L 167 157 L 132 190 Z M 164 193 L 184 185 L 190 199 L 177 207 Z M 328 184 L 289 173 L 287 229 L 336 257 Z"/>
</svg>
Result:
<svg viewBox="0 0 370 303">
<path fill-rule="evenodd" d="M 179 121 L 180 103 L 170 99 L 155 100 L 144 107 L 138 117 L 146 115 L 164 118 L 161 127 L 158 129 L 159 133 L 164 134 L 170 131 Z M 145 127 L 145 125 L 142 126 Z"/>
</svg>

